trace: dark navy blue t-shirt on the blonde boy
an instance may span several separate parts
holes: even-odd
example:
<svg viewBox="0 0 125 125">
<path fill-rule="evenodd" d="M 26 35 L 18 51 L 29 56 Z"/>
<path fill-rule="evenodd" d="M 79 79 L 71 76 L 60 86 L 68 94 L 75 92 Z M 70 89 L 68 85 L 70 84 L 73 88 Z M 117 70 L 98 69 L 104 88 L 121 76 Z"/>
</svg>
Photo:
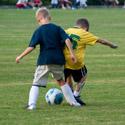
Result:
<svg viewBox="0 0 125 125">
<path fill-rule="evenodd" d="M 29 47 L 35 48 L 36 45 L 40 45 L 37 65 L 64 65 L 63 46 L 67 38 L 69 37 L 65 31 L 52 23 L 44 24 L 36 29 L 31 38 Z"/>
</svg>

